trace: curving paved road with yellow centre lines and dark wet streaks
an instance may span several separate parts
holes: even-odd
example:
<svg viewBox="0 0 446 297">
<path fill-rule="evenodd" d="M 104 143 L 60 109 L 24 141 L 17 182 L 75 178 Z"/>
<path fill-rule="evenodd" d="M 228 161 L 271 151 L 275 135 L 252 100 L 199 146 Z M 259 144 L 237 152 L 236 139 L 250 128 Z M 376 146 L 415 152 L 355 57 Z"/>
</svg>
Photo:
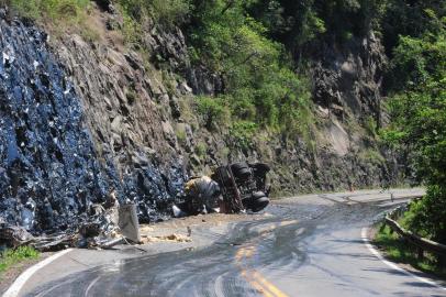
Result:
<svg viewBox="0 0 446 297">
<path fill-rule="evenodd" d="M 392 268 L 361 239 L 383 210 L 413 191 L 280 200 L 215 244 L 123 260 L 46 284 L 29 296 L 446 296 Z M 423 276 L 423 275 L 420 275 Z"/>
</svg>

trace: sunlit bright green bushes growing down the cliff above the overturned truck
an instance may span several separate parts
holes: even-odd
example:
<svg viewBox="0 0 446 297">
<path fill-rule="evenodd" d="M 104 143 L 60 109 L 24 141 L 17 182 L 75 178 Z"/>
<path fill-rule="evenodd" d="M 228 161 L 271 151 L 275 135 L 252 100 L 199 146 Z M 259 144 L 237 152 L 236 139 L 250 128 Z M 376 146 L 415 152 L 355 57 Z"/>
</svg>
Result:
<svg viewBox="0 0 446 297">
<path fill-rule="evenodd" d="M 249 14 L 249 8 L 250 1 L 193 1 L 190 52 L 194 63 L 219 73 L 225 82 L 223 94 L 208 106 L 243 121 L 231 129 L 237 131 L 237 140 L 248 131 L 241 127 L 303 134 L 311 125 L 308 84 L 292 70 L 283 45 L 268 38 L 268 29 Z M 215 116 L 208 121 L 216 120 Z"/>
</svg>

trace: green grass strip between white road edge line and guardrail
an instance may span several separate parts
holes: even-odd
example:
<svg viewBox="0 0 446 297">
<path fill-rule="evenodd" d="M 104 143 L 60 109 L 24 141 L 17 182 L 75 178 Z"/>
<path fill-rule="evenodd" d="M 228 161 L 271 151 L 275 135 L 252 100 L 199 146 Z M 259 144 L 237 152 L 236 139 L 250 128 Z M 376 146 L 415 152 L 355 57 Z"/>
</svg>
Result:
<svg viewBox="0 0 446 297">
<path fill-rule="evenodd" d="M 434 255 L 424 252 L 423 260 L 419 260 L 416 249 L 391 232 L 386 224 L 378 228 L 373 244 L 383 250 L 384 255 L 393 262 L 409 264 L 419 271 L 446 279 L 446 267 L 439 267 Z"/>
</svg>

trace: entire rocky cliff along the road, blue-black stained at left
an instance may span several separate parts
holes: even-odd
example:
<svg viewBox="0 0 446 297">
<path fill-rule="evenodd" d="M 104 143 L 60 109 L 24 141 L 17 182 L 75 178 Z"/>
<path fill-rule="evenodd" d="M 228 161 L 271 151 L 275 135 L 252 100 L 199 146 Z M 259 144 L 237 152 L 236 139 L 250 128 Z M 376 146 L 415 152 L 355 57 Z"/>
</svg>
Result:
<svg viewBox="0 0 446 297">
<path fill-rule="evenodd" d="M 227 131 L 208 131 L 194 96 L 222 88 L 190 64 L 178 28 L 148 23 L 148 51 L 129 50 L 113 11 L 94 9 L 98 38 L 1 16 L 0 217 L 29 230 L 57 230 L 116 196 L 138 204 L 142 221 L 169 217 L 188 176 L 226 162 L 272 166 L 276 195 L 372 187 L 389 178 L 375 140 L 386 63 L 371 33 L 313 56 L 316 124 L 290 142 L 261 132 L 249 150 Z"/>
</svg>

